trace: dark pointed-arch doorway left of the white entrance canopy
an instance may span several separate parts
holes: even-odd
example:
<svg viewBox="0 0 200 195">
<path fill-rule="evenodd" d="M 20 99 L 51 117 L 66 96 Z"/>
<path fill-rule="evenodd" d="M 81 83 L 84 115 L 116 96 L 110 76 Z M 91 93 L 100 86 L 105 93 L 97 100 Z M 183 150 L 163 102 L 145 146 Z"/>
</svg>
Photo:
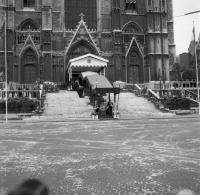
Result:
<svg viewBox="0 0 200 195">
<path fill-rule="evenodd" d="M 34 83 L 38 75 L 38 57 L 32 48 L 28 48 L 21 58 L 21 82 Z"/>
</svg>

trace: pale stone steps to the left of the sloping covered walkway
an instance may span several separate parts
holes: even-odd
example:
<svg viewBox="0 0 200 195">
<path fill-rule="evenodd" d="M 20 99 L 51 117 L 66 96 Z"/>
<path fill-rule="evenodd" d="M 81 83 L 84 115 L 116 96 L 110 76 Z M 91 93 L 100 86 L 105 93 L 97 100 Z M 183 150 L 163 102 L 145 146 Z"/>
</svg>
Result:
<svg viewBox="0 0 200 195">
<path fill-rule="evenodd" d="M 89 98 L 79 98 L 75 91 L 60 91 L 49 93 L 45 100 L 45 111 L 41 120 L 90 119 L 93 108 L 89 105 Z M 38 116 L 31 117 L 37 119 Z"/>
</svg>

